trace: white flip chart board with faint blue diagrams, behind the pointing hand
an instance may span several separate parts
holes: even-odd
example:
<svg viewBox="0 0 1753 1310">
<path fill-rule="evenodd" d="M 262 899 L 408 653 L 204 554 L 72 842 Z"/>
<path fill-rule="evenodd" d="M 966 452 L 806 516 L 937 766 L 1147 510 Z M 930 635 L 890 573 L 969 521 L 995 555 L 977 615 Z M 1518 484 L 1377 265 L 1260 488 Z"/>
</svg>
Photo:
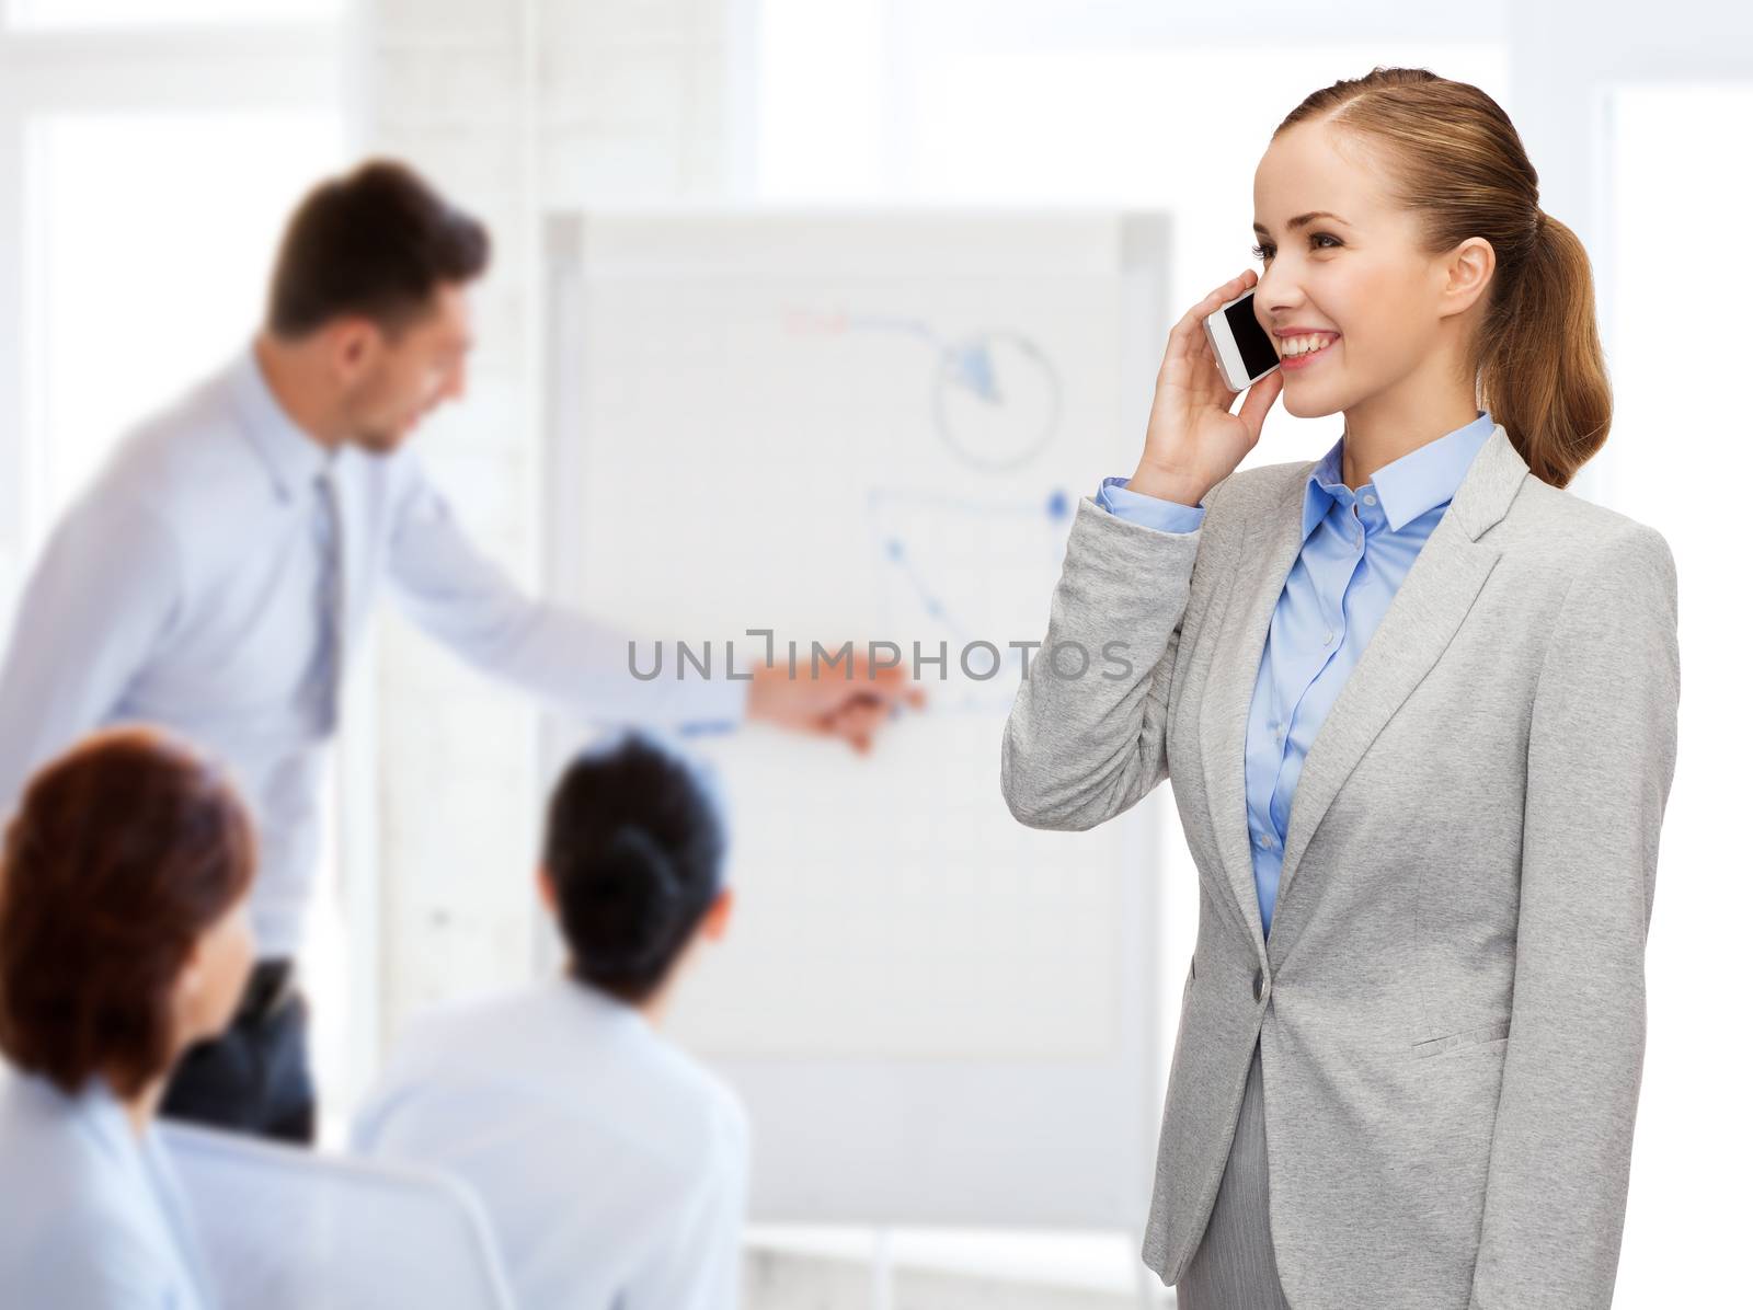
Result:
<svg viewBox="0 0 1753 1310">
<path fill-rule="evenodd" d="M 736 926 L 670 1032 L 743 1095 L 764 1219 L 1127 1226 L 1148 1201 L 1160 804 L 1038 832 L 997 771 L 1071 525 L 1136 457 L 1166 252 L 1131 214 L 552 226 L 554 594 L 652 634 L 684 609 L 743 666 L 747 630 L 799 666 L 938 660 L 869 757 L 689 741 Z M 550 767 L 568 744 L 552 725 Z"/>
</svg>

